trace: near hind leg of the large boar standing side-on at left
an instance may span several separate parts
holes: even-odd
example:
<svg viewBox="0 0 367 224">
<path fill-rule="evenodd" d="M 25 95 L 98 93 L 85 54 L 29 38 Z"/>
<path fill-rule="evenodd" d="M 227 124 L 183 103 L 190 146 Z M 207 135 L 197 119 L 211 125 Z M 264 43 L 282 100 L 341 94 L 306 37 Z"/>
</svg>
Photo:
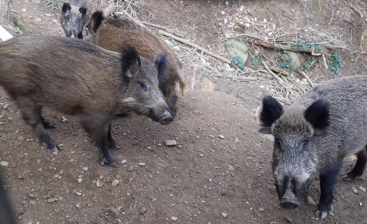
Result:
<svg viewBox="0 0 367 224">
<path fill-rule="evenodd" d="M 58 152 L 60 147 L 46 134 L 43 127 L 44 118 L 39 113 L 39 106 L 35 105 L 31 99 L 20 97 L 16 99 L 18 107 L 22 112 L 23 119 L 32 127 L 37 134 L 42 146 Z"/>
</svg>

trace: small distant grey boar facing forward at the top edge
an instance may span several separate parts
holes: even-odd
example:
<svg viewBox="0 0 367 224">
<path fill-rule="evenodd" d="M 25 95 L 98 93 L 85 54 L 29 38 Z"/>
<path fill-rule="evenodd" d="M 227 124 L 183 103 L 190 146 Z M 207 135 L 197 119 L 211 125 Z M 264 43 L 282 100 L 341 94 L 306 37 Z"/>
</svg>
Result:
<svg viewBox="0 0 367 224">
<path fill-rule="evenodd" d="M 91 0 L 69 0 L 61 9 L 60 22 L 67 37 L 83 39 L 82 31 L 88 25 L 96 6 Z"/>
</svg>

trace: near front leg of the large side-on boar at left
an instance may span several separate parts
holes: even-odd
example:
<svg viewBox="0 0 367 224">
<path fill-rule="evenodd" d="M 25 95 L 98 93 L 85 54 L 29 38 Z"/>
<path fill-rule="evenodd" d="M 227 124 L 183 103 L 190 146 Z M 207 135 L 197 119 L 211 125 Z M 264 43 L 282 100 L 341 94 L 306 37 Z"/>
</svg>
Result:
<svg viewBox="0 0 367 224">
<path fill-rule="evenodd" d="M 96 142 L 99 154 L 99 162 L 102 165 L 111 165 L 112 167 L 118 167 L 116 161 L 108 152 L 108 133 L 109 130 L 111 130 L 111 124 L 104 125 L 102 123 L 93 123 L 91 122 L 91 120 L 97 119 L 85 119 L 81 121 L 81 124 L 84 126 L 85 131 L 91 135 L 93 141 Z"/>
</svg>

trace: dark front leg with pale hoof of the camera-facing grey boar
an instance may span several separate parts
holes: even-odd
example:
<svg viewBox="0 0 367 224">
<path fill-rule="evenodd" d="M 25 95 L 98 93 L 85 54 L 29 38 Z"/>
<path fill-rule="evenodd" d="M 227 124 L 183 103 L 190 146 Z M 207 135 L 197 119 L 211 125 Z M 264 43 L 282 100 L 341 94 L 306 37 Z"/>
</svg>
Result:
<svg viewBox="0 0 367 224">
<path fill-rule="evenodd" d="M 336 182 L 336 177 L 339 174 L 341 164 L 337 164 L 335 168 L 320 174 L 320 200 L 319 207 L 316 211 L 315 216 L 321 219 L 326 218 L 329 210 L 334 211 L 333 206 L 333 190 Z"/>
</svg>

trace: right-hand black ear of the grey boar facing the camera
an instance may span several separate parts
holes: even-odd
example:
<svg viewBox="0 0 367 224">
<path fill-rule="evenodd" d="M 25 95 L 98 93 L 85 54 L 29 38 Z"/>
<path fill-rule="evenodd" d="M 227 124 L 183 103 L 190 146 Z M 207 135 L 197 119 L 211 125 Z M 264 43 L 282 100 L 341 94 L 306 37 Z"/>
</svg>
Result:
<svg viewBox="0 0 367 224">
<path fill-rule="evenodd" d="M 304 111 L 304 118 L 315 129 L 324 129 L 329 126 L 329 104 L 324 100 L 317 100 Z"/>
</svg>

